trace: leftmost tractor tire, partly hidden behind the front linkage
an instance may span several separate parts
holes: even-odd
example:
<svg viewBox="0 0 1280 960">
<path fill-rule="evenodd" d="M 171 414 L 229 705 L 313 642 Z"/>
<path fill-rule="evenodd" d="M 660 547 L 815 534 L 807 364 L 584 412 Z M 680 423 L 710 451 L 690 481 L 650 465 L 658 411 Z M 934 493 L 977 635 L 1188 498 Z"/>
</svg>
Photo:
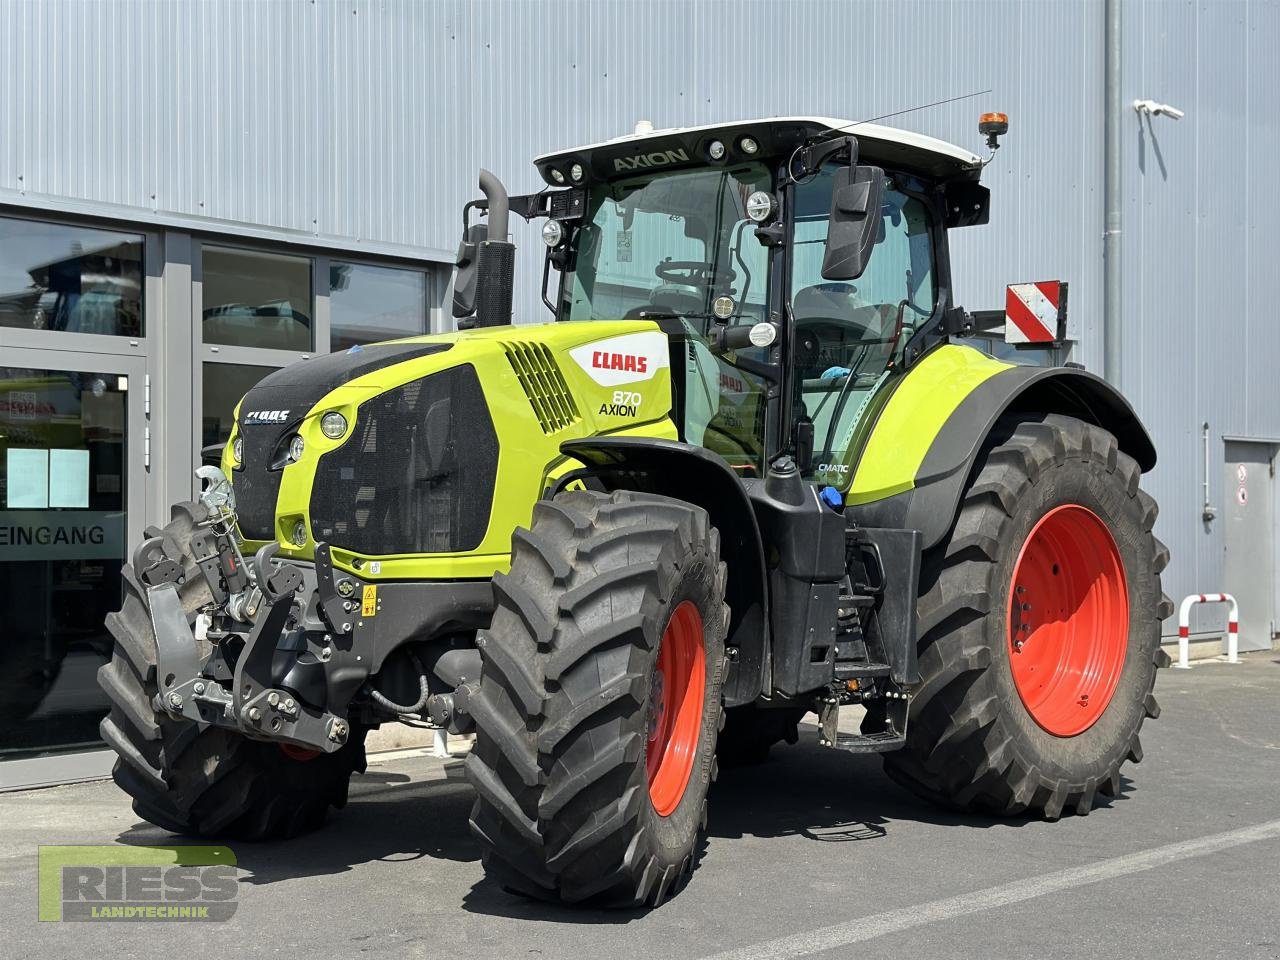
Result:
<svg viewBox="0 0 1280 960">
<path fill-rule="evenodd" d="M 179 503 L 164 530 L 148 530 L 164 552 L 180 559 L 179 588 L 188 620 L 209 599 L 191 556 L 191 535 L 205 508 Z M 291 837 L 324 823 L 330 806 L 344 806 L 352 771 L 365 768 L 365 731 L 333 754 L 301 760 L 276 744 L 248 740 L 225 728 L 201 731 L 154 707 L 156 639 L 147 593 L 128 564 L 122 570 L 124 605 L 108 614 L 115 637 L 111 659 L 97 681 L 111 701 L 100 731 L 118 759 L 113 778 L 133 797 L 138 817 L 195 837 L 268 840 Z"/>
</svg>

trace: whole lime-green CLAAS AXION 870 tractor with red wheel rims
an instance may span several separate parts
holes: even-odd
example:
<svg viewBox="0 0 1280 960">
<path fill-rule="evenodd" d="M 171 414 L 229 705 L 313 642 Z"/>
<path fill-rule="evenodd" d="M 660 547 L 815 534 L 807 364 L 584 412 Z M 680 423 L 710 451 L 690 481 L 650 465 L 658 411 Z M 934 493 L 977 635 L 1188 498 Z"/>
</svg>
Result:
<svg viewBox="0 0 1280 960">
<path fill-rule="evenodd" d="M 138 815 L 292 836 L 425 722 L 475 733 L 490 878 L 657 905 L 717 764 L 806 713 L 951 808 L 1115 796 L 1165 660 L 1156 453 L 1100 378 L 965 343 L 1065 310 L 955 305 L 982 159 L 791 118 L 535 164 L 463 210 L 458 332 L 271 374 L 147 531 L 100 673 Z M 511 214 L 556 323 L 511 324 Z"/>
</svg>

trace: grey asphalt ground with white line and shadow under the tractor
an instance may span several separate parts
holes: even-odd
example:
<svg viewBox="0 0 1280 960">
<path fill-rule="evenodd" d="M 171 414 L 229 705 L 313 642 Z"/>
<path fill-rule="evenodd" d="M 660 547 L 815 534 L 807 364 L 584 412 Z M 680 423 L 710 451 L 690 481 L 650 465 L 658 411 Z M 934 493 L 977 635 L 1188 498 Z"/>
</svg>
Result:
<svg viewBox="0 0 1280 960">
<path fill-rule="evenodd" d="M 952 817 L 809 740 L 714 787 L 692 883 L 648 914 L 481 878 L 470 790 L 399 758 L 320 833 L 236 846 L 221 924 L 36 922 L 38 844 L 147 844 L 110 783 L 0 796 L 12 957 L 1280 957 L 1280 658 L 1165 671 L 1125 791 L 1060 823 Z"/>
</svg>

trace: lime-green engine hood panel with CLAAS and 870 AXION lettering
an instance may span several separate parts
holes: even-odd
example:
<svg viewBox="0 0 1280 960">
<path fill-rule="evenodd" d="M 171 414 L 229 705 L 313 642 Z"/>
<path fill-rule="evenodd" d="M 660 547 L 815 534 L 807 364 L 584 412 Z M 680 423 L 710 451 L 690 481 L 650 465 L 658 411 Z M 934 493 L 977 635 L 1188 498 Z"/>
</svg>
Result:
<svg viewBox="0 0 1280 960">
<path fill-rule="evenodd" d="M 625 337 L 623 343 L 637 342 L 634 334 L 660 338 L 660 365 L 650 351 L 649 375 L 643 380 L 620 384 L 602 384 L 609 371 L 594 372 L 590 364 L 576 356 L 577 348 L 600 342 L 605 346 Z M 511 532 L 517 526 L 527 526 L 532 507 L 547 486 L 557 477 L 581 466 L 559 452 L 564 440 L 593 435 L 639 435 L 676 439 L 676 425 L 671 420 L 671 369 L 667 361 L 666 335 L 652 321 L 561 323 L 530 326 L 490 326 L 477 330 L 460 330 L 448 334 L 416 337 L 397 343 L 447 343 L 449 349 L 439 353 L 390 364 L 333 389 L 316 402 L 302 420 L 297 433 L 303 439 L 301 460 L 283 470 L 276 498 L 275 532 L 280 543 L 280 556 L 311 559 L 315 543 L 310 535 L 308 508 L 311 486 L 319 458 L 337 449 L 353 434 L 360 404 L 380 393 L 449 367 L 470 365 L 483 385 L 489 415 L 498 438 L 498 465 L 490 497 L 477 498 L 492 502 L 489 526 L 484 539 L 474 550 L 463 553 L 436 553 L 430 556 L 355 554 L 332 545 L 334 566 L 356 572 L 365 580 L 462 580 L 486 579 L 504 571 L 509 563 Z M 641 340 L 657 347 L 657 339 Z M 544 428 L 525 385 L 511 358 L 513 348 L 544 346 L 554 358 L 564 379 L 567 393 L 576 410 L 564 417 L 567 424 Z M 614 355 L 616 356 L 616 355 Z M 306 361 L 303 361 L 306 362 Z M 538 378 L 539 374 L 529 376 Z M 544 383 L 539 380 L 539 383 Z M 620 399 L 622 402 L 620 402 Z M 340 412 L 348 422 L 347 433 L 339 439 L 329 439 L 320 430 L 320 419 L 329 411 Z M 237 408 L 238 421 L 238 408 Z M 238 430 L 238 428 L 236 428 Z M 223 451 L 223 471 L 233 476 L 236 463 L 232 457 L 233 431 Z M 294 547 L 291 531 L 298 520 L 307 527 L 307 543 Z M 256 549 L 260 541 L 247 541 Z"/>
</svg>

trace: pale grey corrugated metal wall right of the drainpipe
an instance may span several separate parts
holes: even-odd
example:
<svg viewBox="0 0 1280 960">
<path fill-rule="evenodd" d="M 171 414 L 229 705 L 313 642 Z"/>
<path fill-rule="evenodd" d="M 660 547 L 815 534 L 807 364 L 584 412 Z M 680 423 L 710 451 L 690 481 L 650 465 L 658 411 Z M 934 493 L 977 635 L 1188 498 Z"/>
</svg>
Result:
<svg viewBox="0 0 1280 960">
<path fill-rule="evenodd" d="M 1201 424 L 1220 513 L 1234 495 L 1222 489 L 1222 436 L 1280 438 L 1280 323 L 1267 279 L 1280 252 L 1280 5 L 1130 3 L 1123 29 L 1126 102 L 1187 111 L 1178 122 L 1130 115 L 1123 154 L 1121 387 L 1160 451 L 1146 484 L 1161 503 L 1157 531 L 1174 557 L 1165 589 L 1176 598 L 1233 589 L 1221 582 L 1224 521 L 1201 521 Z M 1221 611 L 1202 622 L 1220 627 Z"/>
</svg>

